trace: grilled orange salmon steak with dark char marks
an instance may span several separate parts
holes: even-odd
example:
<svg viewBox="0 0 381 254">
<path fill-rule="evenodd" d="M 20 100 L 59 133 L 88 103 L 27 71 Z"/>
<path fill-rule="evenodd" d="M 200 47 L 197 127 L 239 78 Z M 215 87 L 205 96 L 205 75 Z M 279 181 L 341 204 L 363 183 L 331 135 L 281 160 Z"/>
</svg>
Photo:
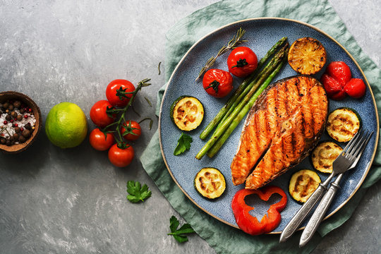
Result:
<svg viewBox="0 0 381 254">
<path fill-rule="evenodd" d="M 260 188 L 301 162 L 320 139 L 327 115 L 327 95 L 313 77 L 298 75 L 267 87 L 243 126 L 231 162 L 234 185 L 246 181 L 246 188 Z"/>
</svg>

